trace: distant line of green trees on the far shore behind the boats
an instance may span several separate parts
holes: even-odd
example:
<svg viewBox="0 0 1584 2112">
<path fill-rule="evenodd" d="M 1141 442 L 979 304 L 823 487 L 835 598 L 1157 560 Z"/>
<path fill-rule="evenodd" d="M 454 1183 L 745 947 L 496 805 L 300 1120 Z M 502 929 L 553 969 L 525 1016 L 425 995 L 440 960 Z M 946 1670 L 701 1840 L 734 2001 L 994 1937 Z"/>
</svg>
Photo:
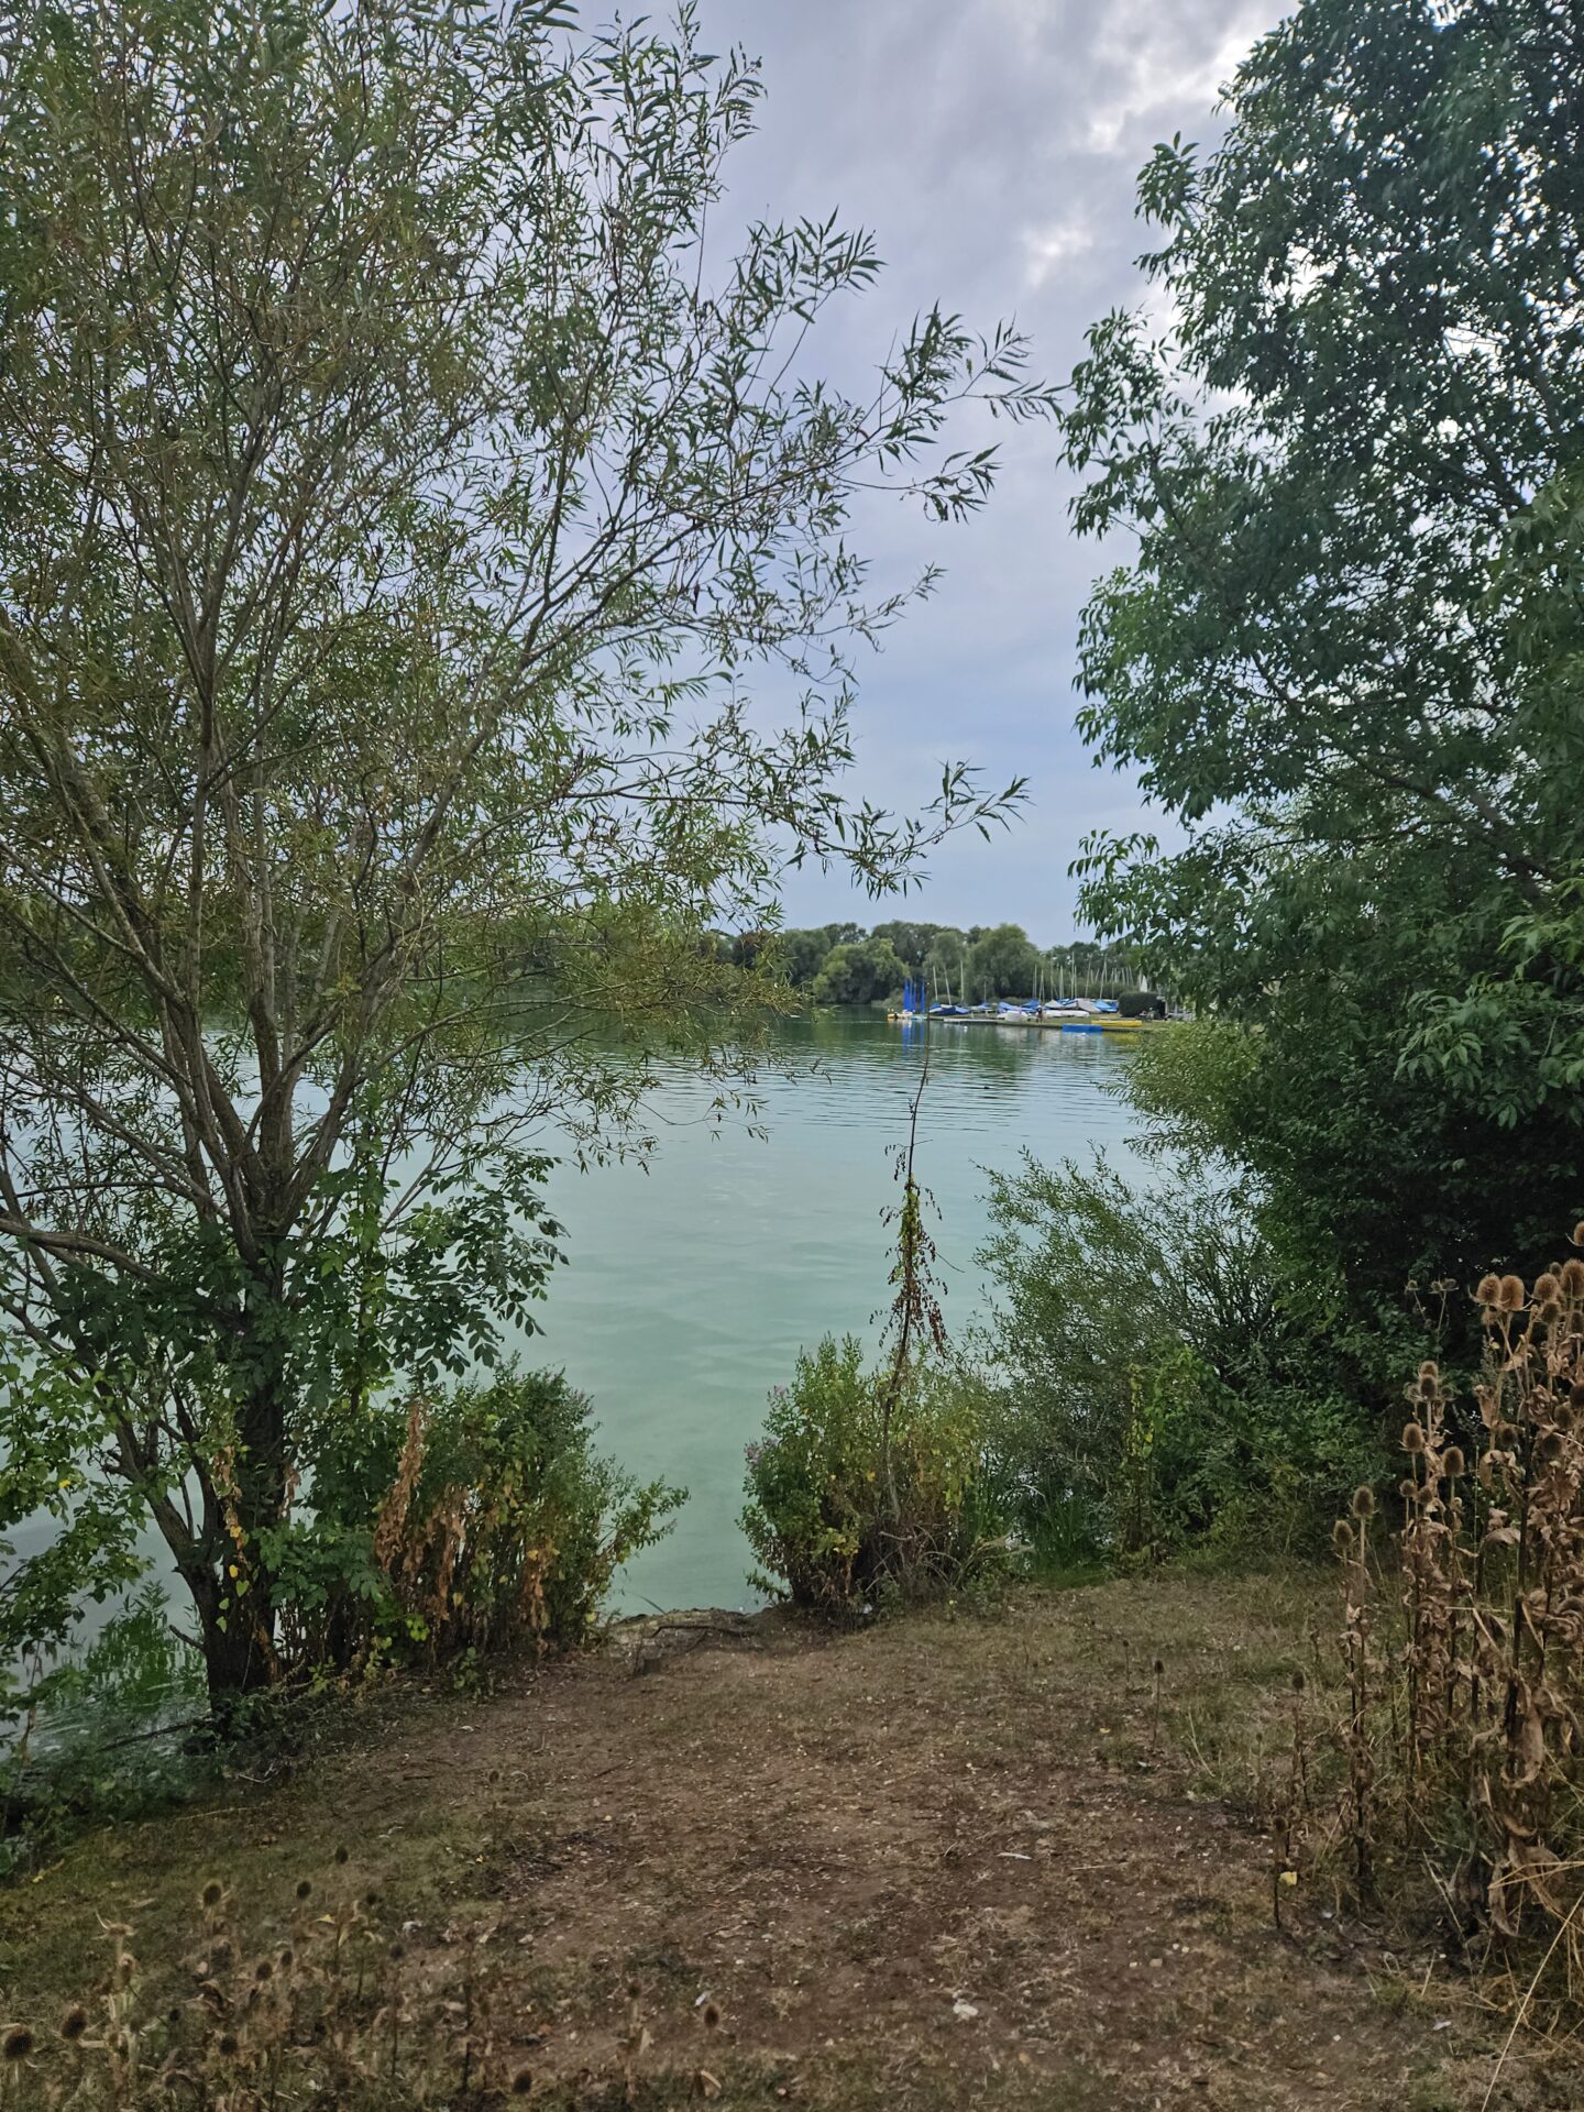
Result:
<svg viewBox="0 0 1584 2112">
<path fill-rule="evenodd" d="M 737 967 L 769 969 L 817 1005 L 870 1005 L 923 978 L 929 999 L 984 1003 L 995 997 L 1117 997 L 1136 988 L 1126 946 L 1073 940 L 1037 946 L 1022 925 L 957 925 L 893 919 L 798 931 L 714 934 Z"/>
</svg>

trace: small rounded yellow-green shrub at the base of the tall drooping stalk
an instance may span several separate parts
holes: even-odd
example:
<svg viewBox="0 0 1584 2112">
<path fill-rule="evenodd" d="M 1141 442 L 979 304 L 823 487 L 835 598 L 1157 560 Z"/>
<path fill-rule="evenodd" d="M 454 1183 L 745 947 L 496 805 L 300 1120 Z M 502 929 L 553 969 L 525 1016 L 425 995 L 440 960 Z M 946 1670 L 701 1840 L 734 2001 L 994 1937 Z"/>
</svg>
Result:
<svg viewBox="0 0 1584 2112">
<path fill-rule="evenodd" d="M 847 1616 L 961 1582 L 995 1533 L 978 1402 L 942 1364 L 870 1371 L 851 1335 L 800 1352 L 748 1447 L 754 1578 Z"/>
</svg>

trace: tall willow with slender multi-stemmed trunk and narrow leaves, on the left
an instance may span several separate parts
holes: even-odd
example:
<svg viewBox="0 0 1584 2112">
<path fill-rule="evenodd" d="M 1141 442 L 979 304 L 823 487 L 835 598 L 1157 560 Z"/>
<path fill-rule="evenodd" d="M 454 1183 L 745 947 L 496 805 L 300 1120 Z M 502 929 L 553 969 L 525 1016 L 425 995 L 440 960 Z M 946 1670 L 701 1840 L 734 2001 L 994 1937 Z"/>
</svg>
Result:
<svg viewBox="0 0 1584 2112">
<path fill-rule="evenodd" d="M 887 889 L 1005 811 L 845 796 L 853 650 L 929 583 L 849 511 L 976 509 L 944 429 L 1048 408 L 1022 342 L 929 313 L 822 382 L 870 241 L 708 239 L 754 68 L 568 17 L 0 11 L 6 1415 L 154 1516 L 218 1694 L 325 1417 L 541 1286 L 524 1117 L 600 1073 L 503 1031 L 524 961 L 680 976 L 777 857 Z"/>
</svg>

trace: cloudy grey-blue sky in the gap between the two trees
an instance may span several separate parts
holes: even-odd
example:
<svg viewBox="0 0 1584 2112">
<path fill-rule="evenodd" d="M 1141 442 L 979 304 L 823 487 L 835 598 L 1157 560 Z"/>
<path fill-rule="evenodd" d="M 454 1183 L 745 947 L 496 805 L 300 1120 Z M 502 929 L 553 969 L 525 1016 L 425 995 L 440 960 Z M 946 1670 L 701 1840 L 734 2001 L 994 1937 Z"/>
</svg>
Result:
<svg viewBox="0 0 1584 2112">
<path fill-rule="evenodd" d="M 760 131 L 735 154 L 731 218 L 841 209 L 874 230 L 887 272 L 838 319 L 826 367 L 885 353 L 940 300 L 974 325 L 1016 315 L 1039 370 L 1064 378 L 1083 329 L 1143 285 L 1134 177 L 1155 139 L 1214 135 L 1214 106 L 1280 0 L 699 0 L 708 49 L 765 61 Z M 912 912 L 1073 931 L 1067 864 L 1096 826 L 1138 815 L 1132 784 L 1098 773 L 1073 731 L 1077 617 L 1100 566 L 1067 526 L 1050 429 L 997 429 L 1001 486 L 967 526 L 891 509 L 868 534 L 889 572 L 938 560 L 934 602 L 864 655 L 862 790 L 925 798 L 940 762 L 972 756 L 1033 803 L 1007 836 L 938 851 Z M 1124 551 L 1115 551 L 1117 558 Z M 794 874 L 790 923 L 872 908 L 838 876 Z"/>
</svg>

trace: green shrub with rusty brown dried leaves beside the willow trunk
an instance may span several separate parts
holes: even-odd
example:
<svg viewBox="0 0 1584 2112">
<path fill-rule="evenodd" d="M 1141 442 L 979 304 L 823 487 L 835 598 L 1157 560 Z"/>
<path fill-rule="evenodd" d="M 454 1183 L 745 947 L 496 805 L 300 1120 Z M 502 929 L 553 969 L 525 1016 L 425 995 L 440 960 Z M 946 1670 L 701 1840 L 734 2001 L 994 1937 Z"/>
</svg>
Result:
<svg viewBox="0 0 1584 2112">
<path fill-rule="evenodd" d="M 593 1451 L 562 1373 L 391 1398 L 325 1445 L 313 1506 L 270 1550 L 296 1668 L 572 1649 L 684 1491 Z"/>
</svg>

